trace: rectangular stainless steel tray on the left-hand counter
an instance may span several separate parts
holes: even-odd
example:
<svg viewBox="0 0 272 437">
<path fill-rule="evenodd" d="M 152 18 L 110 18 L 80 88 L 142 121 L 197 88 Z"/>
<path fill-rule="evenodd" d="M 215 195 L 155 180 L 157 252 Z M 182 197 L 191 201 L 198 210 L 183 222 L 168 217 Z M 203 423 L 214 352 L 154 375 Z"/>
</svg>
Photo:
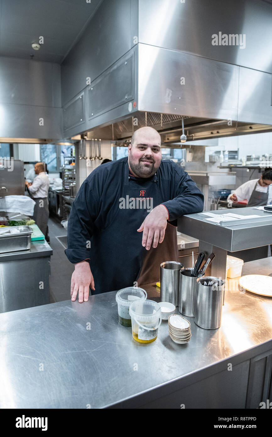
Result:
<svg viewBox="0 0 272 437">
<path fill-rule="evenodd" d="M 0 253 L 17 252 L 18 250 L 28 250 L 31 246 L 31 234 L 33 229 L 30 226 L 7 226 L 0 229 L 18 229 L 19 233 L 0 234 Z"/>
</svg>

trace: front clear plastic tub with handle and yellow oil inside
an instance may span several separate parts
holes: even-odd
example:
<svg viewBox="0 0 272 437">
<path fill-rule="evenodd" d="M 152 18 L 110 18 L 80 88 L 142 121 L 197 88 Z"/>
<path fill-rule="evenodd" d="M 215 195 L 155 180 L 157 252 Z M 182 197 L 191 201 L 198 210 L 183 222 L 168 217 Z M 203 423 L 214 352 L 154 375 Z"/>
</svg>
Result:
<svg viewBox="0 0 272 437">
<path fill-rule="evenodd" d="M 129 307 L 132 336 L 139 343 L 152 343 L 162 323 L 162 310 L 157 302 L 141 299 Z"/>
</svg>

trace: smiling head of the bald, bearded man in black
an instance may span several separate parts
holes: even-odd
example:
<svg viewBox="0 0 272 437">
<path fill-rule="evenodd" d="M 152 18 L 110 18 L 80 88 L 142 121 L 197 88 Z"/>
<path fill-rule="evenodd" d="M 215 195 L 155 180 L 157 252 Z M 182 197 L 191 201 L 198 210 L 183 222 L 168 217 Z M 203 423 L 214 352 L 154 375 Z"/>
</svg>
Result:
<svg viewBox="0 0 272 437">
<path fill-rule="evenodd" d="M 134 176 L 153 176 L 162 160 L 161 137 L 150 127 L 138 129 L 128 146 L 128 163 Z"/>
</svg>

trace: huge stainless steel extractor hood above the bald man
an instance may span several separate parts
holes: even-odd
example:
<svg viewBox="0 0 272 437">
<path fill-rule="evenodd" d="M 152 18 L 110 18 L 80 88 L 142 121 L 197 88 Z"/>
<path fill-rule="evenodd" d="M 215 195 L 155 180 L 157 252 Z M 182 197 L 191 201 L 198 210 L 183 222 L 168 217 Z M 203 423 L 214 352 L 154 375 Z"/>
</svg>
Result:
<svg viewBox="0 0 272 437">
<path fill-rule="evenodd" d="M 123 7 L 123 3 L 119 3 Z M 158 17 L 166 3 L 167 23 Z M 272 131 L 269 44 L 262 42 L 262 56 L 258 56 L 255 45 L 251 46 L 248 40 L 243 50 L 238 46 L 215 47 L 211 44 L 210 24 L 203 22 L 197 8 L 190 2 L 182 5 L 183 9 L 174 3 L 138 1 L 138 18 L 137 14 L 135 19 L 131 16 L 131 22 L 135 21 L 138 26 L 136 44 L 129 42 L 131 49 L 121 57 L 116 54 L 110 67 L 95 76 L 74 98 L 67 99 L 63 112 L 64 138 L 87 133 L 88 138 L 112 139 L 118 144 L 126 144 L 134 130 L 147 125 L 157 129 L 162 135 L 162 143 L 169 146 L 179 141 L 182 115 L 188 141 Z M 237 1 L 236 5 L 243 18 L 242 23 L 236 23 L 237 28 L 253 32 L 250 20 L 257 13 L 254 4 Z M 201 4 L 199 7 L 201 9 Z M 218 17 L 222 13 L 225 28 L 231 29 L 234 15 L 226 14 L 223 6 L 221 12 L 220 6 L 218 8 Z M 192 41 L 187 38 L 186 23 L 187 27 L 179 27 L 177 31 L 176 26 L 183 23 L 187 9 L 198 24 L 195 38 L 200 43 L 205 41 L 203 45 L 190 45 Z M 269 14 L 272 17 L 272 7 L 268 4 L 260 5 L 258 11 L 260 23 L 261 17 L 266 21 Z M 109 23 L 111 20 L 110 14 L 107 16 L 106 3 L 103 20 Z M 256 22 L 259 33 L 254 30 L 257 36 L 262 34 L 260 23 Z M 156 39 L 148 28 L 157 29 Z M 103 48 L 99 47 L 100 50 Z M 95 55 L 95 48 L 92 51 Z M 256 55 L 254 63 L 252 53 Z M 75 56 L 75 59 L 79 58 L 78 52 Z M 264 58 L 265 64 L 262 63 Z M 67 67 L 63 67 L 67 82 L 64 90 L 69 90 L 69 80 L 72 83 L 74 79 L 72 71 L 69 73 L 71 62 L 72 58 L 69 58 Z"/>
</svg>

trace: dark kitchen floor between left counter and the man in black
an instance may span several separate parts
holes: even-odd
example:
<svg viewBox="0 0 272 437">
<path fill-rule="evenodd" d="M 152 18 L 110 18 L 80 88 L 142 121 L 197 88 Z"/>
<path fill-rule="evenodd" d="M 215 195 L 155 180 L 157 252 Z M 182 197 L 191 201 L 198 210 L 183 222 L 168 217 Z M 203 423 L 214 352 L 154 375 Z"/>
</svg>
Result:
<svg viewBox="0 0 272 437">
<path fill-rule="evenodd" d="M 53 250 L 51 256 L 51 274 L 49 277 L 50 303 L 61 302 L 71 299 L 71 276 L 74 265 L 70 263 L 64 253 L 64 247 L 56 237 L 67 236 L 67 231 L 56 218 L 48 220 L 50 247 Z M 61 239 L 65 245 L 65 238 Z"/>
</svg>

